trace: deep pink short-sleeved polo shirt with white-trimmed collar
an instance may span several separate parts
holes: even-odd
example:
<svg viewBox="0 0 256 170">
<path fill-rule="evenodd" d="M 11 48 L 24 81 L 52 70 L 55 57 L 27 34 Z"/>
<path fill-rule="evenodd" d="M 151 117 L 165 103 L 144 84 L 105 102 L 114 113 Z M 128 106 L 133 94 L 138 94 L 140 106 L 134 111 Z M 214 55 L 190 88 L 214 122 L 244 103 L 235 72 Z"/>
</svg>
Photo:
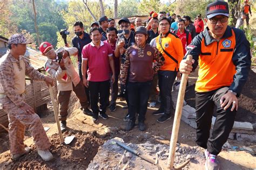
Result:
<svg viewBox="0 0 256 170">
<path fill-rule="evenodd" d="M 84 46 L 82 59 L 88 61 L 87 80 L 95 82 L 109 80 L 109 56 L 112 55 L 110 45 L 103 41 L 100 41 L 99 48 L 93 42 Z"/>
</svg>

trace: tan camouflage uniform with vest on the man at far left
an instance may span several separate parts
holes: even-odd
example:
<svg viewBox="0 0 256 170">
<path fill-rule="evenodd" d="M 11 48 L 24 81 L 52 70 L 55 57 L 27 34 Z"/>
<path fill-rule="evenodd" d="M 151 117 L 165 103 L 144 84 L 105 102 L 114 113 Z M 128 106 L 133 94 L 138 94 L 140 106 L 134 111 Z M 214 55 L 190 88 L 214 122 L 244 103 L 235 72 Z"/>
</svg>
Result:
<svg viewBox="0 0 256 170">
<path fill-rule="evenodd" d="M 25 61 L 23 56 L 16 60 L 11 53 L 0 59 L 0 103 L 9 118 L 9 140 L 12 155 L 24 153 L 24 132 L 28 127 L 38 150 L 51 146 L 37 114 L 28 114 L 20 107 L 24 105 L 25 75 L 33 80 L 44 81 L 45 76 Z"/>
</svg>

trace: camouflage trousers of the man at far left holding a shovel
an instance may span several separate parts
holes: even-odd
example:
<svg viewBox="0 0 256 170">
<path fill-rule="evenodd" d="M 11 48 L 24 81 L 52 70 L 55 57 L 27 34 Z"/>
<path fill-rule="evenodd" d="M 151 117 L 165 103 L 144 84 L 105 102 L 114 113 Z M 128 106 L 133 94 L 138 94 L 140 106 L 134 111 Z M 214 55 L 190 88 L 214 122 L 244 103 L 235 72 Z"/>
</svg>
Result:
<svg viewBox="0 0 256 170">
<path fill-rule="evenodd" d="M 0 98 L 3 110 L 9 119 L 9 141 L 11 154 L 24 153 L 24 133 L 27 127 L 38 150 L 48 150 L 50 141 L 37 114 L 27 114 L 8 97 Z"/>
</svg>

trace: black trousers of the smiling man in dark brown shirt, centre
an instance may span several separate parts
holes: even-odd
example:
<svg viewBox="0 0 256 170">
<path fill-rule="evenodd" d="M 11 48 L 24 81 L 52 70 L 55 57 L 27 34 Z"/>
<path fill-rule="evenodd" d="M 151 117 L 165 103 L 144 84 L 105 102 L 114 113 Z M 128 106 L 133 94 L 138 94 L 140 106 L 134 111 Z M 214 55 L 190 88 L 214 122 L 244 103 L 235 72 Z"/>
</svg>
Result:
<svg viewBox="0 0 256 170">
<path fill-rule="evenodd" d="M 129 91 L 129 117 L 131 121 L 136 120 L 136 113 L 139 115 L 139 122 L 145 121 L 147 112 L 147 101 L 150 96 L 152 81 L 147 82 L 128 82 Z"/>
</svg>

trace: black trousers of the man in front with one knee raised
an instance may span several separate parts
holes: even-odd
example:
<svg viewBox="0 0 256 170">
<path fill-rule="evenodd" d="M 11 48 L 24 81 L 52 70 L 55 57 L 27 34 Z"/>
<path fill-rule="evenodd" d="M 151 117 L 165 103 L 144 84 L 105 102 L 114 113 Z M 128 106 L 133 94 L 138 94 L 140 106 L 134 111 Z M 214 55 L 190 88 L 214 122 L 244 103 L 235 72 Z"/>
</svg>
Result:
<svg viewBox="0 0 256 170">
<path fill-rule="evenodd" d="M 231 111 L 232 105 L 227 110 L 220 107 L 220 98 L 227 90 L 228 87 L 223 87 L 206 93 L 196 93 L 196 142 L 214 155 L 220 153 L 227 141 L 237 113 L 235 110 Z M 210 134 L 213 113 L 216 113 L 216 120 Z"/>
</svg>

